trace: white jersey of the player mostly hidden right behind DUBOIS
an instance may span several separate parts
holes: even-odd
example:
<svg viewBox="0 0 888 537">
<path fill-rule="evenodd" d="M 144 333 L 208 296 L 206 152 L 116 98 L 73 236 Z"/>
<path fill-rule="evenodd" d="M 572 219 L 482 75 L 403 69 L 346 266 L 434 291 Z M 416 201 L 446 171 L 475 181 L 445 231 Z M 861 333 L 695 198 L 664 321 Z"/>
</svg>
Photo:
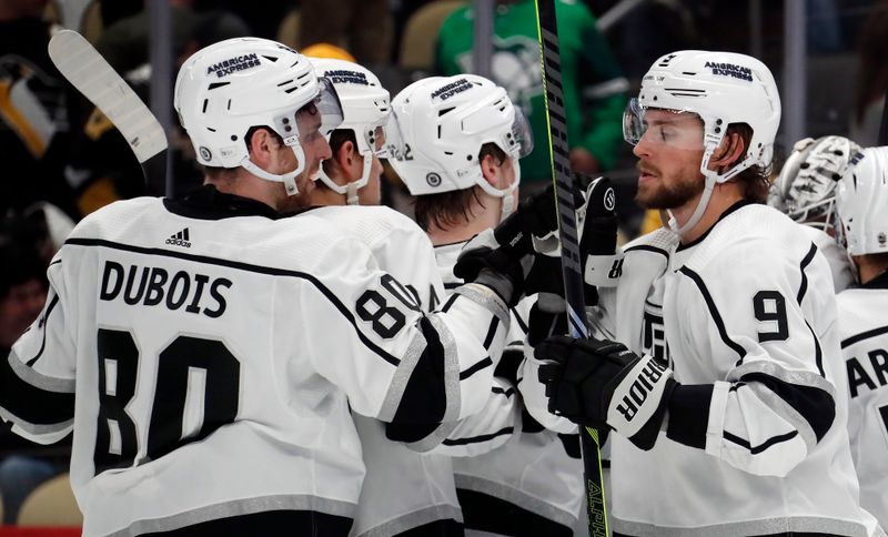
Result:
<svg viewBox="0 0 888 537">
<path fill-rule="evenodd" d="M 403 284 L 424 312 L 431 296 L 444 296 L 432 243 L 405 215 L 385 206 L 326 206 L 312 214 L 366 244 L 380 268 Z M 389 440 L 382 422 L 353 417 L 367 473 L 350 535 L 382 537 L 435 520 L 463 521 L 451 457 L 416 453 Z"/>
</svg>

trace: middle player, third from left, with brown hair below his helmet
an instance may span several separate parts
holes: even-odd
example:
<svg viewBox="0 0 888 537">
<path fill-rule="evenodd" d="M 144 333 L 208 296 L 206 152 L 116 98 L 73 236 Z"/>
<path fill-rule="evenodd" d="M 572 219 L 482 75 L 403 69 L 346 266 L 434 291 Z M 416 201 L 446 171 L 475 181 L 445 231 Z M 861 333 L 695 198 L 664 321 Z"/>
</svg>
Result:
<svg viewBox="0 0 888 537">
<path fill-rule="evenodd" d="M 531 132 L 505 90 L 472 74 L 414 82 L 392 108 L 403 138 L 393 141 L 390 162 L 416 196 L 416 221 L 435 244 L 445 286 L 456 288 L 462 280 L 454 265 L 466 241 L 490 232 L 517 206 L 518 159 L 532 149 Z M 534 202 L 554 212 L 551 192 L 527 203 Z M 512 348 L 497 368 L 514 384 L 529 304 L 523 301 L 512 311 Z M 495 388 L 492 399 L 518 398 L 512 383 Z M 450 438 L 481 453 L 453 462 L 466 535 L 572 535 L 583 497 L 575 432 L 559 437 L 525 414 L 515 423 L 491 422 L 488 430 L 474 436 Z M 481 446 L 496 437 L 508 439 L 483 453 Z"/>
</svg>

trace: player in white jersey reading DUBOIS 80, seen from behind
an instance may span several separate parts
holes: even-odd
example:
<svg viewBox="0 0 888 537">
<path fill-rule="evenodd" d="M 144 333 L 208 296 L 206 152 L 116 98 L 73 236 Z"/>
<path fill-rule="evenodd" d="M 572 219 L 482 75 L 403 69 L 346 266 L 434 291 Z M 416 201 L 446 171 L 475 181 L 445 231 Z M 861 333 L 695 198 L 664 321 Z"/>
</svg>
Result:
<svg viewBox="0 0 888 537">
<path fill-rule="evenodd" d="M 85 536 L 344 536 L 364 476 L 350 408 L 406 426 L 481 408 L 524 252 L 474 252 L 496 264 L 425 314 L 361 241 L 280 217 L 342 119 L 280 43 L 198 51 L 174 105 L 208 185 L 75 227 L 0 363 L 0 416 L 36 442 L 73 429 Z"/>
</svg>

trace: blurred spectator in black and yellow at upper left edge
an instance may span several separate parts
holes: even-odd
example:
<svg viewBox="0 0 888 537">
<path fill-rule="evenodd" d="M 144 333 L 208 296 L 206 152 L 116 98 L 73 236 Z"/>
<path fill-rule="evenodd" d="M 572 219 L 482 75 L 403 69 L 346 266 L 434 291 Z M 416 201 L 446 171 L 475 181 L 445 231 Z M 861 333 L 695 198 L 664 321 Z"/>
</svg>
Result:
<svg viewBox="0 0 888 537">
<path fill-rule="evenodd" d="M 47 200 L 77 214 L 62 166 L 68 151 L 65 85 L 47 53 L 47 0 L 0 1 L 0 215 Z"/>
</svg>

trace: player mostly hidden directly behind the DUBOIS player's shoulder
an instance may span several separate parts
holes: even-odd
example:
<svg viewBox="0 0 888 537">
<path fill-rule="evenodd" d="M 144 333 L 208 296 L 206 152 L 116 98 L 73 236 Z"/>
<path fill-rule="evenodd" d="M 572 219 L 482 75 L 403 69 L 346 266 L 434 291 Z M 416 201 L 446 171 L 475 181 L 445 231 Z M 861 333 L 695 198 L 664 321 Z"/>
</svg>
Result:
<svg viewBox="0 0 888 537">
<path fill-rule="evenodd" d="M 432 243 L 407 216 L 380 203 L 390 95 L 373 72 L 335 59 L 312 58 L 315 73 L 331 81 L 343 121 L 332 131 L 333 155 L 312 191 L 312 214 L 365 243 L 382 270 L 395 277 L 424 312 L 444 287 Z M 361 206 L 357 206 L 361 205 Z M 421 454 L 385 437 L 384 425 L 354 414 L 367 468 L 351 535 L 462 535 L 451 458 Z"/>
</svg>

